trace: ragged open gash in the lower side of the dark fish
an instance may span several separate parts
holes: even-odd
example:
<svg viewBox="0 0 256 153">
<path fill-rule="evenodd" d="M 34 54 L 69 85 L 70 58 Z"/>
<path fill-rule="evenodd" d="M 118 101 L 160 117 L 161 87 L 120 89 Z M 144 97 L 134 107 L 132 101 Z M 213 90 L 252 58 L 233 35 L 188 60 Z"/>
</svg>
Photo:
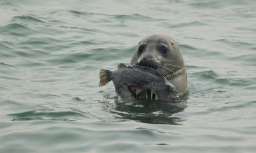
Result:
<svg viewBox="0 0 256 153">
<path fill-rule="evenodd" d="M 145 98 L 151 100 L 157 100 L 156 92 L 143 85 L 130 85 L 130 90 L 135 98 Z"/>
</svg>

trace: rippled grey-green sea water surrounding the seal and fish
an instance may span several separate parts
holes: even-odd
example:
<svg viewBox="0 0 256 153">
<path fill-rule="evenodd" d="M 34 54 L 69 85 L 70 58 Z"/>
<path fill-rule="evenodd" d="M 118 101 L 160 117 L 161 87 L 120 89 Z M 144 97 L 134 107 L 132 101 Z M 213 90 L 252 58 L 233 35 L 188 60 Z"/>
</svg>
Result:
<svg viewBox="0 0 256 153">
<path fill-rule="evenodd" d="M 0 1 L 0 152 L 255 152 L 256 3 Z M 99 69 L 138 42 L 178 42 L 188 92 L 113 98 Z"/>
</svg>

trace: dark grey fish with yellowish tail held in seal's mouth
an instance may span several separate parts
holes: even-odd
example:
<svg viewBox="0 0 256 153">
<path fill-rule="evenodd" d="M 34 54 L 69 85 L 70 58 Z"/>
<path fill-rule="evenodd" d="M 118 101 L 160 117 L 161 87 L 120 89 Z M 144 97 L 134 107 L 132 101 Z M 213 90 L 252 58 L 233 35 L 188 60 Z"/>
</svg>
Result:
<svg viewBox="0 0 256 153">
<path fill-rule="evenodd" d="M 117 65 L 115 71 L 100 69 L 99 87 L 112 81 L 120 99 L 152 99 L 170 101 L 179 98 L 175 86 L 168 82 L 157 69 L 148 66 Z"/>
</svg>

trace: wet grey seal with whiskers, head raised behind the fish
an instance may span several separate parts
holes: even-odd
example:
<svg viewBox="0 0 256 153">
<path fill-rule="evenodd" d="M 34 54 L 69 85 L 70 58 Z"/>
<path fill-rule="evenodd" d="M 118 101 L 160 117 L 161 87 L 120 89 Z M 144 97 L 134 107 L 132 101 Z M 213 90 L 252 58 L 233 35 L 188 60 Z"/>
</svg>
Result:
<svg viewBox="0 0 256 153">
<path fill-rule="evenodd" d="M 143 38 L 132 56 L 131 65 L 157 69 L 175 86 L 179 96 L 188 88 L 184 60 L 177 43 L 170 36 L 155 34 Z"/>
</svg>

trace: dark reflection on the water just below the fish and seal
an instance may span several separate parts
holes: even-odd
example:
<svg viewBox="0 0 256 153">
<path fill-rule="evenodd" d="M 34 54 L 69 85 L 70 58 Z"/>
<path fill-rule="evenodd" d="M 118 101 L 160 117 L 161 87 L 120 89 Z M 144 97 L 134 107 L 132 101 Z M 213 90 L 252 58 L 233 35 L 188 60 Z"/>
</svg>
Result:
<svg viewBox="0 0 256 153">
<path fill-rule="evenodd" d="M 147 99 L 127 103 L 127 101 L 120 102 L 116 99 L 116 106 L 110 112 L 117 114 L 117 119 L 136 120 L 150 124 L 181 124 L 186 119 L 172 117 L 172 115 L 184 111 L 187 107 L 187 99 L 188 95 L 168 103 Z"/>
</svg>

